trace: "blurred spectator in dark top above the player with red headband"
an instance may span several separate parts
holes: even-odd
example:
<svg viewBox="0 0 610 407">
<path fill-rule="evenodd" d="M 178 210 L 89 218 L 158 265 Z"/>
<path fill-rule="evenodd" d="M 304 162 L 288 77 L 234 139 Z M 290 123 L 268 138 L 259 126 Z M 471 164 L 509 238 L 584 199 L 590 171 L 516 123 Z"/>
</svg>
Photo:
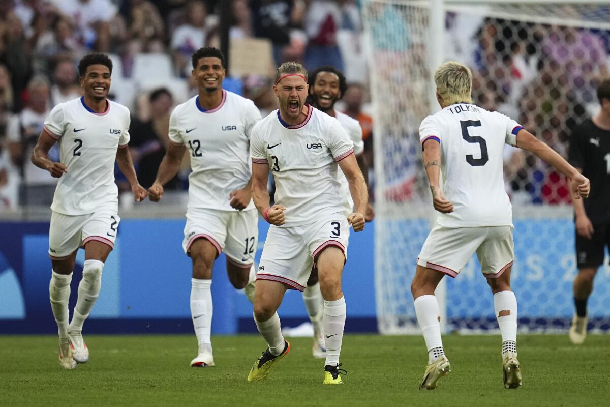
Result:
<svg viewBox="0 0 610 407">
<path fill-rule="evenodd" d="M 254 35 L 268 38 L 273 43 L 276 65 L 292 60 L 300 62 L 305 52 L 304 35 L 295 31 L 303 21 L 302 0 L 253 0 L 250 2 L 254 18 Z"/>
</svg>

